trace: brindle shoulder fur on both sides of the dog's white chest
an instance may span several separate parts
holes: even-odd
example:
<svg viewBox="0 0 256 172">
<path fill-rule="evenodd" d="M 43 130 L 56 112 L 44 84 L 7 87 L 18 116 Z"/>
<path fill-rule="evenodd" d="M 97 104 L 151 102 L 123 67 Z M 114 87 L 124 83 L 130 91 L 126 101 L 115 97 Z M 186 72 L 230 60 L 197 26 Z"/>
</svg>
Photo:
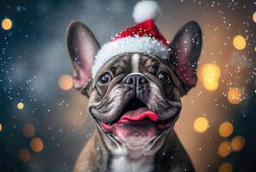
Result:
<svg viewBox="0 0 256 172">
<path fill-rule="evenodd" d="M 73 172 L 109 171 L 113 156 L 104 144 L 102 133 L 95 131 L 81 151 Z M 172 130 L 165 138 L 165 144 L 154 157 L 155 168 L 151 172 L 195 171 L 190 157 Z M 122 164 L 121 164 L 122 165 Z"/>
</svg>

